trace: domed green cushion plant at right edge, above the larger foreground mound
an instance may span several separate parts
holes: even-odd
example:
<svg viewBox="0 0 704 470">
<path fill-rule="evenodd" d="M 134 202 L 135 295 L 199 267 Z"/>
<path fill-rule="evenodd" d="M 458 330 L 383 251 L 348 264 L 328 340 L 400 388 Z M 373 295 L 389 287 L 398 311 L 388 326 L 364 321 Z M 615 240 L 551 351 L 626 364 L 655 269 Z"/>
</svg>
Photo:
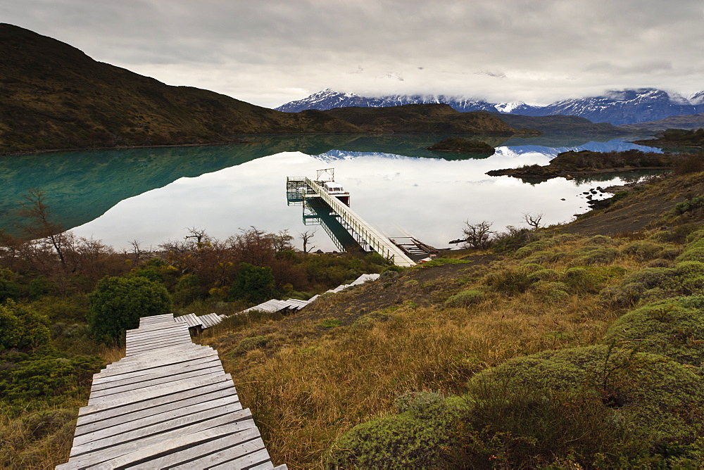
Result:
<svg viewBox="0 0 704 470">
<path fill-rule="evenodd" d="M 604 342 L 670 357 L 696 367 L 704 360 L 704 306 L 702 296 L 673 298 L 644 305 L 617 319 Z"/>
</svg>

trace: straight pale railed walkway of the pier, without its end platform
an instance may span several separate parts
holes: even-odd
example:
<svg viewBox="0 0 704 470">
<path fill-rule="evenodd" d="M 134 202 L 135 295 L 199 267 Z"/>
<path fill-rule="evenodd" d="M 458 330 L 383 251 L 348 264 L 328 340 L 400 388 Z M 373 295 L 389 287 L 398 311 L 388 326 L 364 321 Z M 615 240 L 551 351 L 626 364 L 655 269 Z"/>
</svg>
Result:
<svg viewBox="0 0 704 470">
<path fill-rule="evenodd" d="M 327 191 L 322 189 L 322 186 L 320 186 L 318 182 L 306 178 L 306 184 L 310 186 L 310 189 L 315 191 L 316 196 L 322 198 L 332 210 L 337 212 L 341 220 L 351 227 L 352 230 L 356 231 L 356 233 L 369 243 L 369 246 L 379 253 L 379 255 L 384 256 L 384 258 L 389 258 L 398 266 L 415 266 L 415 261 L 408 258 L 401 248 L 398 248 L 398 246 L 389 240 L 389 237 L 379 232 L 370 224 L 367 224 L 362 217 L 357 215 L 357 213 L 351 210 L 347 205 L 341 203 L 339 199 L 328 194 Z"/>
</svg>

